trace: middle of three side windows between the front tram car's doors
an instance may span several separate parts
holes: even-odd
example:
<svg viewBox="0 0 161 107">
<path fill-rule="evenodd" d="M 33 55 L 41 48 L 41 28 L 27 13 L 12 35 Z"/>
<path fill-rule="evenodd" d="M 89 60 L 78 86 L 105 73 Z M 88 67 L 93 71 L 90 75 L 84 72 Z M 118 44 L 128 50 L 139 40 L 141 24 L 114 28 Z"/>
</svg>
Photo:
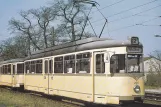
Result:
<svg viewBox="0 0 161 107">
<path fill-rule="evenodd" d="M 64 57 L 64 73 L 75 73 L 75 55 Z"/>
</svg>

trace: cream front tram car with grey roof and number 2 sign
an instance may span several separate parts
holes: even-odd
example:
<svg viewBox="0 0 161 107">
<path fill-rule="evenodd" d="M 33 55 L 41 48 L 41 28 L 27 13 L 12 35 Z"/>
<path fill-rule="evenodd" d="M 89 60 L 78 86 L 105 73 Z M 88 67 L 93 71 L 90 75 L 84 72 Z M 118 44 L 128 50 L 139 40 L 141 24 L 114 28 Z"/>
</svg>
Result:
<svg viewBox="0 0 161 107">
<path fill-rule="evenodd" d="M 138 37 L 87 38 L 32 53 L 26 90 L 100 104 L 143 101 L 143 46 Z"/>
</svg>

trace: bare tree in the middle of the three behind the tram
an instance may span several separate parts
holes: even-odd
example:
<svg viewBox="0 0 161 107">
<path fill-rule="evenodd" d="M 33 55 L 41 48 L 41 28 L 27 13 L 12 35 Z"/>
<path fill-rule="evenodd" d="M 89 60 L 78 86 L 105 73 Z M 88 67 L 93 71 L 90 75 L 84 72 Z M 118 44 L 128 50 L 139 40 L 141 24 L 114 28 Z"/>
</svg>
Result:
<svg viewBox="0 0 161 107">
<path fill-rule="evenodd" d="M 57 9 L 52 9 L 50 7 L 41 7 L 39 9 L 31 9 L 29 12 L 36 18 L 38 28 L 43 35 L 44 48 L 48 47 L 47 37 L 52 35 L 52 30 L 50 24 L 57 16 Z M 54 44 L 53 44 L 54 45 Z"/>
</svg>

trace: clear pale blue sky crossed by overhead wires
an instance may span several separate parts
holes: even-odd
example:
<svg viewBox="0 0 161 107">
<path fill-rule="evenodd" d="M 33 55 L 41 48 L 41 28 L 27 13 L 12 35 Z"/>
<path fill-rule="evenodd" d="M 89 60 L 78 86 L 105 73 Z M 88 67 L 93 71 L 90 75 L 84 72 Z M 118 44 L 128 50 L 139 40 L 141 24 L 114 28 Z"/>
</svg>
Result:
<svg viewBox="0 0 161 107">
<path fill-rule="evenodd" d="M 108 23 L 101 37 L 126 40 L 129 36 L 138 36 L 147 56 L 155 50 L 161 51 L 161 0 L 95 0 L 99 11 L 107 18 Z M 1 0 L 0 1 L 0 41 L 9 37 L 8 21 L 20 18 L 21 10 L 36 9 L 46 6 L 51 0 Z M 89 5 L 90 6 L 90 5 Z M 100 34 L 104 17 L 92 8 L 90 22 L 97 35 Z M 86 31 L 92 31 L 90 26 Z"/>
</svg>

